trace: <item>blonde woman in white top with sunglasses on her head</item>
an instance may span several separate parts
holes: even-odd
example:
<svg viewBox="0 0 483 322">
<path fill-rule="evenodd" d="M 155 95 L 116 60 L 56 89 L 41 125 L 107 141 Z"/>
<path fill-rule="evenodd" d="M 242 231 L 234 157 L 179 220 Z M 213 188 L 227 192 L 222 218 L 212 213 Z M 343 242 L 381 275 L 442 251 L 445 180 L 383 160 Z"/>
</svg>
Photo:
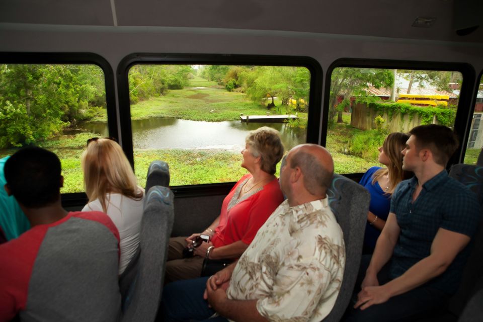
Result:
<svg viewBox="0 0 483 322">
<path fill-rule="evenodd" d="M 139 246 L 144 189 L 137 185 L 121 146 L 112 139 L 89 139 L 81 164 L 89 198 L 82 211 L 102 211 L 116 225 L 121 238 L 121 275 Z"/>
</svg>

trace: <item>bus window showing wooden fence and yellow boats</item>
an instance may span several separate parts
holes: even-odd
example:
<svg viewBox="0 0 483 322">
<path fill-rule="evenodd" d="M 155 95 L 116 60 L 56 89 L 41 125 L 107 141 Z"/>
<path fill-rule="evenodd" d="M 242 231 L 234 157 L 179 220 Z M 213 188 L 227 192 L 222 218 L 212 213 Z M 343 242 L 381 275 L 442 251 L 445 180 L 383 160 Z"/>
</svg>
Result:
<svg viewBox="0 0 483 322">
<path fill-rule="evenodd" d="M 453 127 L 461 84 L 455 71 L 334 68 L 326 146 L 335 172 L 380 167 L 378 147 L 391 132 L 431 123 Z"/>
</svg>

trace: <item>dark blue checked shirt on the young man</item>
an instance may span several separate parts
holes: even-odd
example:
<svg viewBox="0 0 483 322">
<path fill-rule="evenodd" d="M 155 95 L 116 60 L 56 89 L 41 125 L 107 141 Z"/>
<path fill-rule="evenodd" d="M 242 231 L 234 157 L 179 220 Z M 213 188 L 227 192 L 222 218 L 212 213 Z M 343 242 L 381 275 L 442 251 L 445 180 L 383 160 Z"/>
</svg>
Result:
<svg viewBox="0 0 483 322">
<path fill-rule="evenodd" d="M 392 253 L 390 278 L 402 275 L 430 255 L 431 244 L 439 228 L 472 237 L 481 217 L 476 195 L 460 182 L 448 177 L 446 170 L 427 181 L 412 203 L 417 183 L 416 177 L 405 180 L 392 195 L 391 212 L 396 214 L 400 233 Z M 443 274 L 426 285 L 448 294 L 456 292 L 471 244 L 456 255 Z"/>
</svg>

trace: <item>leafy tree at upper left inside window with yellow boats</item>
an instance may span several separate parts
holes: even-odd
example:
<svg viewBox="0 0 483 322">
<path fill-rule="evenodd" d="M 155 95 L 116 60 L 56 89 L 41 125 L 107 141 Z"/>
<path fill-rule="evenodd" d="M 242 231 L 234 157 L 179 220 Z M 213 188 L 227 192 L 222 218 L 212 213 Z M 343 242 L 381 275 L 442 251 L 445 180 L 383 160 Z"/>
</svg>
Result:
<svg viewBox="0 0 483 322">
<path fill-rule="evenodd" d="M 342 123 L 342 107 L 347 106 L 352 96 L 371 96 L 367 89 L 391 87 L 394 75 L 390 69 L 377 68 L 335 68 L 331 76 L 331 93 L 329 100 L 329 122 L 334 121 L 338 112 L 337 122 Z M 337 96 L 343 95 L 343 105 L 338 106 Z M 350 105 L 350 104 L 349 104 Z"/>
</svg>

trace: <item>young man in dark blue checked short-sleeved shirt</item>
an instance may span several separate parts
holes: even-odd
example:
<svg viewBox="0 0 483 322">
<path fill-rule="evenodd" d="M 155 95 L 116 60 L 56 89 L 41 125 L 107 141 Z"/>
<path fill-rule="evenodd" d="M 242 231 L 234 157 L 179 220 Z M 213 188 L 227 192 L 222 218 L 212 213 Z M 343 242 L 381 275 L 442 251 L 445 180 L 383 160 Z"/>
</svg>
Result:
<svg viewBox="0 0 483 322">
<path fill-rule="evenodd" d="M 460 284 L 481 209 L 476 195 L 446 172 L 458 146 L 453 131 L 431 124 L 410 133 L 403 169 L 415 176 L 397 186 L 374 254 L 363 256 L 362 290 L 347 321 L 424 318 Z"/>
</svg>

